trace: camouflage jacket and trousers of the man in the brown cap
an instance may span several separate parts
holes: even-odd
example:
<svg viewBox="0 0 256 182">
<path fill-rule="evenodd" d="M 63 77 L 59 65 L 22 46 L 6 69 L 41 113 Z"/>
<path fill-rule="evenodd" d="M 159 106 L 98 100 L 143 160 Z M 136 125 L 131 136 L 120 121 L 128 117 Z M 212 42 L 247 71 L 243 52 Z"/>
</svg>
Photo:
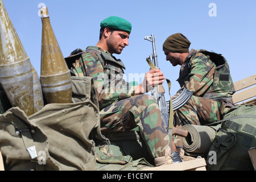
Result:
<svg viewBox="0 0 256 182">
<path fill-rule="evenodd" d="M 177 125 L 205 125 L 219 121 L 234 106 L 235 92 L 225 58 L 204 49 L 191 50 L 177 79 L 181 88 L 193 92 L 191 99 L 175 113 Z"/>
</svg>

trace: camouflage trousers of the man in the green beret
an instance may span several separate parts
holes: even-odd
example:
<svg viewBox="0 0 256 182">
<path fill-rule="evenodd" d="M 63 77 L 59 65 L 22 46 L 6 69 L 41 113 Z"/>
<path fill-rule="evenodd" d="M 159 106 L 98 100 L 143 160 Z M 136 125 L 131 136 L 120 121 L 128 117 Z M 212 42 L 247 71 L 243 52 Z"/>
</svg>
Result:
<svg viewBox="0 0 256 182">
<path fill-rule="evenodd" d="M 147 94 L 115 102 L 100 111 L 101 130 L 123 133 L 139 126 L 139 131 L 153 158 L 164 156 L 170 138 L 163 126 L 158 104 Z"/>
</svg>

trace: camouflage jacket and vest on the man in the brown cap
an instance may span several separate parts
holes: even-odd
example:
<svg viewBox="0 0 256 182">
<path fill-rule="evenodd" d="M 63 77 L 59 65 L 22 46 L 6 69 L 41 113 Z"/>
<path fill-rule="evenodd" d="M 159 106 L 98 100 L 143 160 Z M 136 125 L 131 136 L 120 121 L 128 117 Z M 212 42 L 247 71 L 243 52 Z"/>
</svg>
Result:
<svg viewBox="0 0 256 182">
<path fill-rule="evenodd" d="M 185 87 L 194 96 L 222 101 L 226 106 L 234 106 L 232 95 L 234 84 L 229 65 L 225 58 L 204 49 L 191 50 L 180 68 L 177 79 L 181 88 Z"/>
</svg>

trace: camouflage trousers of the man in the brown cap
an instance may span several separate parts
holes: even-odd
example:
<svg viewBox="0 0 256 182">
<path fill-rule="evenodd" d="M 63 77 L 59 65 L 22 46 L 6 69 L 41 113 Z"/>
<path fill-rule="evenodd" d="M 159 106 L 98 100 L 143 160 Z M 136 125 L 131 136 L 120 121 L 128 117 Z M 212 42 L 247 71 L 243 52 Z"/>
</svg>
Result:
<svg viewBox="0 0 256 182">
<path fill-rule="evenodd" d="M 176 125 L 207 125 L 220 121 L 227 109 L 221 102 L 192 96 L 187 104 L 176 110 L 174 119 Z"/>
</svg>

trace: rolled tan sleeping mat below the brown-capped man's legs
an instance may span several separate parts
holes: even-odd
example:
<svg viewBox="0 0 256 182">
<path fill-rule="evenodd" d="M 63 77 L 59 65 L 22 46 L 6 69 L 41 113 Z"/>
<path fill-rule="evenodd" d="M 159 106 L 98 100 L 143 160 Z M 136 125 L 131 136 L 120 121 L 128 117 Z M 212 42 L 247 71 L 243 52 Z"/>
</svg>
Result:
<svg viewBox="0 0 256 182">
<path fill-rule="evenodd" d="M 184 125 L 183 130 L 188 131 L 188 136 L 183 138 L 183 149 L 189 156 L 204 156 L 215 138 L 218 126 Z"/>
</svg>

